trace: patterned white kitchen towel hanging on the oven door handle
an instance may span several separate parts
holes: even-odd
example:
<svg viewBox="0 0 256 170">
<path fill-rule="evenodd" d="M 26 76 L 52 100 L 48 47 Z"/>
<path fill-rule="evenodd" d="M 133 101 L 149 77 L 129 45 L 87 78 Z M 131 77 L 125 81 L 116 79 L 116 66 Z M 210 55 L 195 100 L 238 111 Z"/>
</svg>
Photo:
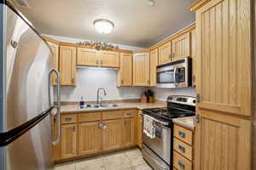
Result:
<svg viewBox="0 0 256 170">
<path fill-rule="evenodd" d="M 145 133 L 149 138 L 155 138 L 155 127 L 154 118 L 152 116 L 143 115 L 143 133 Z"/>
</svg>

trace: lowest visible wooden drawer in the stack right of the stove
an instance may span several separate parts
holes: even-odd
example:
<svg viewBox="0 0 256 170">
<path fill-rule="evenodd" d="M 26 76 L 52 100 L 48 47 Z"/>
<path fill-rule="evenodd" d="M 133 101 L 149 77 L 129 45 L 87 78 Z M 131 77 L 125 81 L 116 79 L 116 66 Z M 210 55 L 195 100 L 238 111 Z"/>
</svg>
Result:
<svg viewBox="0 0 256 170">
<path fill-rule="evenodd" d="M 177 170 L 192 170 L 192 162 L 180 156 L 176 151 L 173 152 L 173 166 Z"/>
</svg>

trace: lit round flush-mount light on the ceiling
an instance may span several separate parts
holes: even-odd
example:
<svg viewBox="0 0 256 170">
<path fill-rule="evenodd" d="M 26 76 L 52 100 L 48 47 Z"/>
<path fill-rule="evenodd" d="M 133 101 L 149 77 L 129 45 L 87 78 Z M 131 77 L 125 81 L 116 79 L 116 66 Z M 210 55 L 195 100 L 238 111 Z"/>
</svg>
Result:
<svg viewBox="0 0 256 170">
<path fill-rule="evenodd" d="M 95 20 L 93 25 L 95 26 L 96 31 L 102 34 L 108 34 L 113 29 L 113 22 L 106 19 Z"/>
</svg>

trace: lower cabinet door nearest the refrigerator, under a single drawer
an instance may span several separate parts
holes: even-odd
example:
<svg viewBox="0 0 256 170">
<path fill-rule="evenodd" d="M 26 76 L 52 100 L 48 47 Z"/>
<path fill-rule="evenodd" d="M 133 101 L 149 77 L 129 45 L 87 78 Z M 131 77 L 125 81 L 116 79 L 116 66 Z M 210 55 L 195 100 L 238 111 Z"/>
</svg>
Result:
<svg viewBox="0 0 256 170">
<path fill-rule="evenodd" d="M 61 158 L 77 156 L 77 125 L 61 126 Z"/>
</svg>

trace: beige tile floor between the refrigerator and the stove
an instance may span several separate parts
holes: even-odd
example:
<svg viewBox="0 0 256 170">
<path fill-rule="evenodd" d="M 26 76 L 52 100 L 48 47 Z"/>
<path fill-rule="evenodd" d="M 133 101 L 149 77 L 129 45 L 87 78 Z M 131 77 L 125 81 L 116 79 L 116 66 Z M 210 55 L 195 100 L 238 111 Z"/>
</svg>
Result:
<svg viewBox="0 0 256 170">
<path fill-rule="evenodd" d="M 55 170 L 152 170 L 141 150 L 131 149 L 58 164 Z"/>
</svg>

